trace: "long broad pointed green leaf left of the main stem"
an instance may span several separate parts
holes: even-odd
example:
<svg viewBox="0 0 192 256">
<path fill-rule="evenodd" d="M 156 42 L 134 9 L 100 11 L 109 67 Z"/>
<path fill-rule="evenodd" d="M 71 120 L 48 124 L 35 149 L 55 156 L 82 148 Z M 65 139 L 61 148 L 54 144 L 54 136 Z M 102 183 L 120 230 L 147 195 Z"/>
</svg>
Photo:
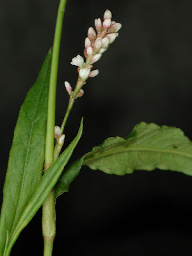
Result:
<svg viewBox="0 0 192 256">
<path fill-rule="evenodd" d="M 12 236 L 42 177 L 51 56 L 49 51 L 36 83 L 20 108 L 15 127 L 3 189 L 0 255 L 3 255 L 6 237 Z"/>
</svg>

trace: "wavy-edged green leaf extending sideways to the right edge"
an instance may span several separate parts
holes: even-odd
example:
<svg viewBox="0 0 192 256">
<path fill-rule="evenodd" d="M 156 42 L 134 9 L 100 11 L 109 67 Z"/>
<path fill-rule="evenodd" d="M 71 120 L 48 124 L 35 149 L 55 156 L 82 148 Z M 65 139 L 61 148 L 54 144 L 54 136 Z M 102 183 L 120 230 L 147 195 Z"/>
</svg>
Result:
<svg viewBox="0 0 192 256">
<path fill-rule="evenodd" d="M 192 143 L 178 128 L 141 122 L 126 140 L 108 138 L 94 147 L 84 164 L 116 175 L 156 168 L 192 175 Z"/>
</svg>

